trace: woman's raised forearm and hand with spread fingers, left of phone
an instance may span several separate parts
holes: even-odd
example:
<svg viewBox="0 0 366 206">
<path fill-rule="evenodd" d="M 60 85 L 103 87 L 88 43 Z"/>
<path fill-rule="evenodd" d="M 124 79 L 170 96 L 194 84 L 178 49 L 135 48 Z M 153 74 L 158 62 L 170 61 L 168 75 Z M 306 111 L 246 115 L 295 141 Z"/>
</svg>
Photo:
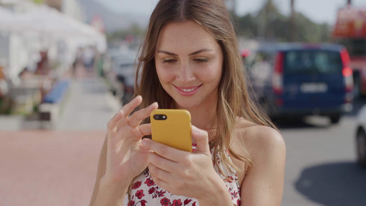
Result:
<svg viewBox="0 0 366 206">
<path fill-rule="evenodd" d="M 158 104 L 153 103 L 130 116 L 141 101 L 141 96 L 137 96 L 108 122 L 90 206 L 122 205 L 128 185 L 148 164 L 148 150 L 142 146 L 141 138 L 151 134 L 151 125 L 140 124 Z"/>
</svg>

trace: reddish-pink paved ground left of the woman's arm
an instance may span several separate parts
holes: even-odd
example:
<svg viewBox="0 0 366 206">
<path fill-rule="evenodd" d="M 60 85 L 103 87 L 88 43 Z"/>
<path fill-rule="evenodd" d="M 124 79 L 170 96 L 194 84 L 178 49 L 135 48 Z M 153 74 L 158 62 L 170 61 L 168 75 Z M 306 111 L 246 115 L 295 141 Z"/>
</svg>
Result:
<svg viewBox="0 0 366 206">
<path fill-rule="evenodd" d="M 87 206 L 105 132 L 0 133 L 1 206 Z"/>
</svg>

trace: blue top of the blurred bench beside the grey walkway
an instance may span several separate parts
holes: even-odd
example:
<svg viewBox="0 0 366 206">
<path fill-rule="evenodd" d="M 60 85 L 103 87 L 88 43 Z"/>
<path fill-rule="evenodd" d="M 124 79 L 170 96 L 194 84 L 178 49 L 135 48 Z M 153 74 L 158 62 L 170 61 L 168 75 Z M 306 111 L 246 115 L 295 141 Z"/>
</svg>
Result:
<svg viewBox="0 0 366 206">
<path fill-rule="evenodd" d="M 60 103 L 70 87 L 70 80 L 61 80 L 53 85 L 51 91 L 44 97 L 44 103 Z"/>
</svg>

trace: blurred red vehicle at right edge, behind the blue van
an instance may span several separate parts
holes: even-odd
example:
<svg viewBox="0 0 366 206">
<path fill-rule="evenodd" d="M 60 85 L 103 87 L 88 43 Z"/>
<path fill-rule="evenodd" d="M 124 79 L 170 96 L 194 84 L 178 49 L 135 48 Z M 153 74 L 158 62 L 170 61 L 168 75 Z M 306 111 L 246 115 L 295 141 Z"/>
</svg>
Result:
<svg viewBox="0 0 366 206">
<path fill-rule="evenodd" d="M 349 52 L 355 98 L 366 95 L 366 7 L 339 9 L 333 38 Z"/>
</svg>

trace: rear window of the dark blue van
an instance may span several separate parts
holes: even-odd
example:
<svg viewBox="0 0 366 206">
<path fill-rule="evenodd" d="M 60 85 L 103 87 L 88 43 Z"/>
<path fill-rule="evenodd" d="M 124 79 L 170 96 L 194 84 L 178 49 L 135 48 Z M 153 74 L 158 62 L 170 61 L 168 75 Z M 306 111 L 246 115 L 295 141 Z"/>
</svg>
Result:
<svg viewBox="0 0 366 206">
<path fill-rule="evenodd" d="M 342 72 L 339 52 L 298 50 L 285 52 L 285 74 L 335 74 Z"/>
</svg>

